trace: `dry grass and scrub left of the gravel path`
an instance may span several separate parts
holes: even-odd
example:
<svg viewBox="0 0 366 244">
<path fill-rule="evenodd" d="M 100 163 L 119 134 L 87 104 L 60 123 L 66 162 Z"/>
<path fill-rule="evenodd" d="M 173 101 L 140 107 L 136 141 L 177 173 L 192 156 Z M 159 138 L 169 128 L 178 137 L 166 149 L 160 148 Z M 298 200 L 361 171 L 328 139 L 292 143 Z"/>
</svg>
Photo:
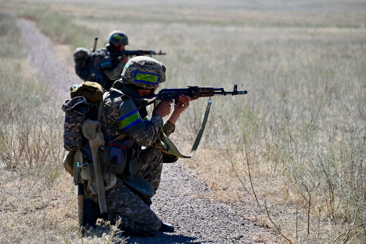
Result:
<svg viewBox="0 0 366 244">
<path fill-rule="evenodd" d="M 80 236 L 77 189 L 61 165 L 64 115 L 29 69 L 15 18 L 0 12 L 0 32 L 0 242 L 124 243 L 115 226 Z"/>
</svg>

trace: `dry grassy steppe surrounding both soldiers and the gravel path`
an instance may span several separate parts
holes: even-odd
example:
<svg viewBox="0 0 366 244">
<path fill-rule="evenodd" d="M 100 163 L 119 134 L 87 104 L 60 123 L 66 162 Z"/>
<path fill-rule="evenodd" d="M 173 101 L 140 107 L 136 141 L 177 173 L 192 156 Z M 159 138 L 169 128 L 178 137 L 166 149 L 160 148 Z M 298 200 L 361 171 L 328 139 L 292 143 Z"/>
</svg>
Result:
<svg viewBox="0 0 366 244">
<path fill-rule="evenodd" d="M 212 97 L 196 154 L 178 161 L 212 190 L 195 197 L 245 207 L 243 218 L 272 233 L 232 243 L 366 243 L 366 1 L 0 0 L 0 6 L 0 243 L 128 242 L 108 223 L 80 234 L 77 188 L 62 166 L 60 108 L 69 87 L 81 83 L 70 78 L 73 52 L 92 48 L 95 36 L 101 48 L 112 30 L 128 34 L 128 50 L 167 53 L 153 56 L 167 67 L 161 88 L 232 91 L 238 84 L 248 91 Z M 25 24 L 36 26 L 51 48 L 32 42 Z M 44 63 L 36 64 L 33 47 Z M 50 68 L 50 52 L 62 69 Z M 206 103 L 193 101 L 172 134 L 183 154 Z"/>
</svg>

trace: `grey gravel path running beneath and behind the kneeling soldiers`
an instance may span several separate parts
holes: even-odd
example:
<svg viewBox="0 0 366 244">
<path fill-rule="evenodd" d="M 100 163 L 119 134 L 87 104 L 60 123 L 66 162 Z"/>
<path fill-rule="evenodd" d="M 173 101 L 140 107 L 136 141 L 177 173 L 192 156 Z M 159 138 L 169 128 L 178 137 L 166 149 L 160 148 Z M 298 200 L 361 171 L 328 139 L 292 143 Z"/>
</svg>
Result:
<svg viewBox="0 0 366 244">
<path fill-rule="evenodd" d="M 69 98 L 69 87 L 80 83 L 76 74 L 70 71 L 70 66 L 74 64 L 60 61 L 55 55 L 51 41 L 39 32 L 34 23 L 20 19 L 18 25 L 29 44 L 31 67 L 37 70 L 42 78 L 55 82 L 59 99 L 61 102 L 65 101 Z M 175 232 L 159 232 L 153 237 L 130 236 L 128 243 L 249 244 L 276 240 L 267 228 L 257 226 L 255 222 L 246 219 L 251 215 L 251 206 L 198 197 L 207 194 L 213 195 L 214 192 L 205 182 L 188 173 L 183 160 L 164 164 L 160 188 L 153 197 L 152 209 L 163 221 L 174 224 Z"/>
</svg>

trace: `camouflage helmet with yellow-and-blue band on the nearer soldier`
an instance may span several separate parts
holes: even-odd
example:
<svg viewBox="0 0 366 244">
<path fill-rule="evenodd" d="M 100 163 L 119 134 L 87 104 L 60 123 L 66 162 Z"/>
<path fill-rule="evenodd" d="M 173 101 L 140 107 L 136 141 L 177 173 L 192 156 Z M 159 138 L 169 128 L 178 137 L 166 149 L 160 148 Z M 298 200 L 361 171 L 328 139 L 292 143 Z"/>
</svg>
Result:
<svg viewBox="0 0 366 244">
<path fill-rule="evenodd" d="M 141 89 L 153 89 L 165 81 L 165 65 L 147 56 L 128 60 L 122 71 L 122 84 L 133 84 Z"/>
</svg>

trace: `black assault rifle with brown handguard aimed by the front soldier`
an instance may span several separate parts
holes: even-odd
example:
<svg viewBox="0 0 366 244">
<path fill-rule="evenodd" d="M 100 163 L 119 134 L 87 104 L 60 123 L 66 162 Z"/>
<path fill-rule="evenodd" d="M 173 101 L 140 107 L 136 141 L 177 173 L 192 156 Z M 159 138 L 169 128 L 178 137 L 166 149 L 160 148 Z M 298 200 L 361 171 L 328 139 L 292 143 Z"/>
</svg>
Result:
<svg viewBox="0 0 366 244">
<path fill-rule="evenodd" d="M 153 94 L 149 96 L 141 96 L 141 97 L 131 97 L 131 99 L 149 99 L 154 98 L 165 101 L 165 100 L 174 100 L 174 104 L 178 104 L 179 95 L 187 95 L 191 98 L 195 97 L 212 97 L 216 95 L 244 95 L 248 92 L 246 90 L 238 90 L 238 85 L 234 85 L 234 90 L 232 92 L 225 92 L 224 88 L 216 88 L 210 86 L 188 86 L 188 88 L 165 88 L 161 89 L 158 94 Z M 152 104 L 154 101 L 144 104 L 147 106 Z"/>
</svg>

